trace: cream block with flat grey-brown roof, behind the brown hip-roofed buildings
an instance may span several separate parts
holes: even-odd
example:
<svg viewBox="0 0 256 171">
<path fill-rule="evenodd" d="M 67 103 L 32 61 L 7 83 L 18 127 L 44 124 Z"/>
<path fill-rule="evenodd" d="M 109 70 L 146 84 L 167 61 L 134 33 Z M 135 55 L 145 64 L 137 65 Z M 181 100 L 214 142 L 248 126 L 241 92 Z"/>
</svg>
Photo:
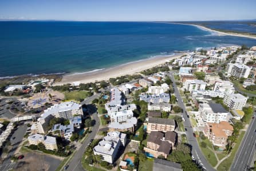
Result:
<svg viewBox="0 0 256 171">
<path fill-rule="evenodd" d="M 147 132 L 151 131 L 174 131 L 175 121 L 173 119 L 163 119 L 157 117 L 149 117 L 147 124 Z"/>
</svg>

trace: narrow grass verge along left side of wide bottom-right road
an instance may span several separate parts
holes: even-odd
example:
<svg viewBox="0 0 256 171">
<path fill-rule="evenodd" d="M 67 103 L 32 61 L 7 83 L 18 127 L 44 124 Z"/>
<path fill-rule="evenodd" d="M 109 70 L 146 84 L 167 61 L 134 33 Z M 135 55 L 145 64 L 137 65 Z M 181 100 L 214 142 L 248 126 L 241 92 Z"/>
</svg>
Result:
<svg viewBox="0 0 256 171">
<path fill-rule="evenodd" d="M 225 171 L 225 170 L 229 170 L 233 160 L 234 160 L 234 157 L 235 157 L 235 153 L 237 153 L 237 150 L 241 144 L 241 141 L 243 139 L 243 136 L 245 135 L 245 131 L 242 131 L 238 137 L 238 140 L 237 140 L 237 143 L 235 143 L 235 146 L 233 148 L 233 150 L 231 151 L 231 154 L 229 156 L 229 158 L 226 158 L 226 160 L 224 160 L 217 168 L 217 170 L 220 170 L 220 171 Z"/>
</svg>

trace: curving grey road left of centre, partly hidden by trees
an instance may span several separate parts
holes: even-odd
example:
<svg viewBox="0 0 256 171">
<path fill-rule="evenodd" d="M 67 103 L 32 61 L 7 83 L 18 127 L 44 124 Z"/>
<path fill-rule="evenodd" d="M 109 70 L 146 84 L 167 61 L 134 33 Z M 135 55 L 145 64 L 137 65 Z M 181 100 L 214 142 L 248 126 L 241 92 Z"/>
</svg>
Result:
<svg viewBox="0 0 256 171">
<path fill-rule="evenodd" d="M 93 99 L 96 99 L 97 97 L 99 97 L 99 94 L 93 95 L 88 97 L 87 99 L 85 99 L 84 101 L 82 101 L 81 104 L 89 104 L 92 102 Z M 81 147 L 79 149 L 77 149 L 77 152 L 74 154 L 74 156 L 72 157 L 72 159 L 69 161 L 68 165 L 68 169 L 69 171 L 74 171 L 74 170 L 84 170 L 82 168 L 82 164 L 81 164 L 81 159 L 82 159 L 82 154 L 84 154 L 85 149 L 87 147 L 87 145 L 89 144 L 89 141 L 91 139 L 94 139 L 94 137 L 96 136 L 98 130 L 99 130 L 99 118 L 97 116 L 97 113 L 93 113 L 92 115 L 93 119 L 96 121 L 95 125 L 92 127 L 92 132 L 89 133 L 89 136 L 86 138 L 86 140 L 82 143 Z"/>
</svg>

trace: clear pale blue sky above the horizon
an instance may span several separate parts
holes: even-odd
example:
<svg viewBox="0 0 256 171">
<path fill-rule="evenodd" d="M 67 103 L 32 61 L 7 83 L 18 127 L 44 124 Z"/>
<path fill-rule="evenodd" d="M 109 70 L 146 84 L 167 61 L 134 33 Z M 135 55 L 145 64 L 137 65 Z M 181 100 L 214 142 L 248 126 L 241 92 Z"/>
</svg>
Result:
<svg viewBox="0 0 256 171">
<path fill-rule="evenodd" d="M 0 20 L 214 21 L 256 19 L 256 0 L 0 0 Z"/>
</svg>

